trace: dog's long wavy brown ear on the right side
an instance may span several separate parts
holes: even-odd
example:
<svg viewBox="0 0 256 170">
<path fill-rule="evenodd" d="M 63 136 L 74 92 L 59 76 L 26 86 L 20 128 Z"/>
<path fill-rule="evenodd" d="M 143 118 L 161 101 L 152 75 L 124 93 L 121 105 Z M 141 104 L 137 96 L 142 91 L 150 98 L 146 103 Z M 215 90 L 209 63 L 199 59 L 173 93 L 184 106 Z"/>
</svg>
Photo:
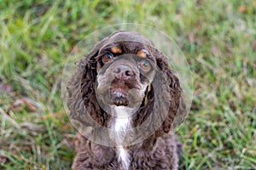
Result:
<svg viewBox="0 0 256 170">
<path fill-rule="evenodd" d="M 161 136 L 175 127 L 174 119 L 180 113 L 179 109 L 183 111 L 179 107 L 184 105 L 180 105 L 182 88 L 175 71 L 169 68 L 164 54 L 155 48 L 153 50 L 152 55 L 156 59 L 158 68 L 152 84 L 147 88 L 143 103 L 134 117 L 134 122 L 136 127 L 145 124 L 141 129 L 143 133 L 155 132 L 156 136 Z"/>
</svg>

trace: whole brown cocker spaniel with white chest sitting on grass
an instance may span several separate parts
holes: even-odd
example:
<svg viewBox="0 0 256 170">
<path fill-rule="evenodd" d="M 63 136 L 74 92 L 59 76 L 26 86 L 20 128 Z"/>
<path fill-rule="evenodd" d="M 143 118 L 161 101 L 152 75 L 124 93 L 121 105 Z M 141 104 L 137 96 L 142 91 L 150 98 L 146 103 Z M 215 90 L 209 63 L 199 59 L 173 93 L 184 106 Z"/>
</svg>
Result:
<svg viewBox="0 0 256 170">
<path fill-rule="evenodd" d="M 182 144 L 169 131 L 184 107 L 182 88 L 153 42 L 117 31 L 77 67 L 67 84 L 70 117 L 93 127 L 96 142 L 79 137 L 72 168 L 177 169 Z"/>
</svg>

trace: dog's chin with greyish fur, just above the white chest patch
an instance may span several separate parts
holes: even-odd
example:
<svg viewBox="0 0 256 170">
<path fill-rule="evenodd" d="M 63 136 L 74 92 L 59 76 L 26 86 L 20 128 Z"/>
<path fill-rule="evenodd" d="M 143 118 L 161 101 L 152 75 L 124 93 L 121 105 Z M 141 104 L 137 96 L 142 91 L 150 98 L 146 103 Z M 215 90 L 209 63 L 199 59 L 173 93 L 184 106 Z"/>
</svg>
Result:
<svg viewBox="0 0 256 170">
<path fill-rule="evenodd" d="M 129 100 L 127 99 L 127 94 L 123 93 L 121 90 L 113 90 L 110 92 L 111 101 L 113 105 L 116 106 L 128 106 Z"/>
</svg>

